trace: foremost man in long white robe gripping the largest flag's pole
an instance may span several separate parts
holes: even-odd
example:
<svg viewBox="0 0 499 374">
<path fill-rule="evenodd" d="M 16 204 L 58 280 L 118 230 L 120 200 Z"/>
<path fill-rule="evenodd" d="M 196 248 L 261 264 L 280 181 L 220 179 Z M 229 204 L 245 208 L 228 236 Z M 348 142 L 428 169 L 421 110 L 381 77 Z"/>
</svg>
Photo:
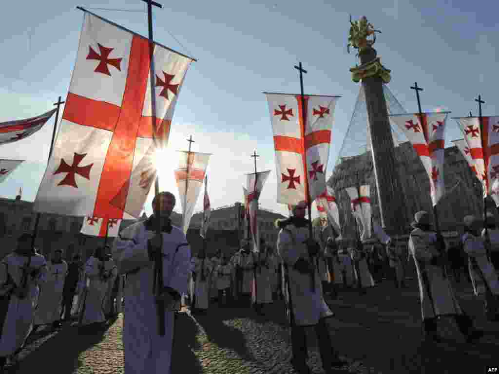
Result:
<svg viewBox="0 0 499 374">
<path fill-rule="evenodd" d="M 124 228 L 113 244 L 118 273 L 127 274 L 123 313 L 124 374 L 171 373 L 175 316 L 180 310 L 181 295 L 187 292 L 191 271 L 191 247 L 183 230 L 173 226 L 170 220 L 175 195 L 157 194 L 152 207 L 154 213 L 147 220 Z M 160 235 L 156 234 L 157 219 Z M 153 293 L 158 252 L 163 259 L 163 279 L 158 281 L 160 287 Z M 164 310 L 158 310 L 160 307 Z M 158 316 L 164 318 L 164 335 L 159 332 Z"/>
</svg>

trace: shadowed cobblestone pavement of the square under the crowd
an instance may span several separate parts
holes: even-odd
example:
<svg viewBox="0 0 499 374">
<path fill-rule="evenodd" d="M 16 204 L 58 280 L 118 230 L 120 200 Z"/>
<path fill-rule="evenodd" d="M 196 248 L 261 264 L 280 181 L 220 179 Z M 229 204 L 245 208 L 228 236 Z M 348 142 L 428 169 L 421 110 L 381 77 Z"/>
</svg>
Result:
<svg viewBox="0 0 499 374">
<path fill-rule="evenodd" d="M 457 289 L 463 308 L 487 332 L 473 345 L 456 337 L 452 324 L 445 325 L 443 334 L 449 339 L 443 343 L 422 341 L 415 281 L 402 290 L 384 282 L 366 295 L 340 291 L 338 300 L 328 300 L 336 314 L 329 323 L 333 344 L 349 361 L 338 373 L 485 373 L 486 364 L 499 360 L 499 323 L 486 321 L 483 303 L 473 296 L 469 284 L 461 283 Z M 58 332 L 42 330 L 6 373 L 34 373 L 46 365 L 52 374 L 123 373 L 121 329 L 120 316 L 99 329 L 78 331 L 73 323 Z M 313 373 L 323 373 L 312 332 L 307 336 L 309 366 Z M 249 308 L 219 309 L 217 305 L 208 315 L 181 313 L 175 339 L 174 374 L 294 373 L 281 302 L 268 306 L 267 317 L 258 317 Z"/>
</svg>

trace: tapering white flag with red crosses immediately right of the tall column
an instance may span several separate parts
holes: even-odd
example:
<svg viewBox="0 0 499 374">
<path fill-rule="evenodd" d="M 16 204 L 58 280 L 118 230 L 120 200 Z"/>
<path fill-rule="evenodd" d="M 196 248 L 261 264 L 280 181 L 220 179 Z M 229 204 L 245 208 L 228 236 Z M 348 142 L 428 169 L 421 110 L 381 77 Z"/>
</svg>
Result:
<svg viewBox="0 0 499 374">
<path fill-rule="evenodd" d="M 449 112 L 391 115 L 394 122 L 411 142 L 430 181 L 433 206 L 445 193 L 444 155 L 445 125 Z"/>
</svg>

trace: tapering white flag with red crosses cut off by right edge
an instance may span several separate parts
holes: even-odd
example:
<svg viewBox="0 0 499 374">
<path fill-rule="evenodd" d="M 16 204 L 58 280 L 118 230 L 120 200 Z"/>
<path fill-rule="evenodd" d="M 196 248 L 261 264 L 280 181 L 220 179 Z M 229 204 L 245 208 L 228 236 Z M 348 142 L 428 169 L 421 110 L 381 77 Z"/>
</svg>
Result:
<svg viewBox="0 0 499 374">
<path fill-rule="evenodd" d="M 482 182 L 484 197 L 497 197 L 499 184 L 499 116 L 456 118 L 465 136 L 475 175 Z M 494 193 L 493 193 L 494 192 Z"/>
</svg>

